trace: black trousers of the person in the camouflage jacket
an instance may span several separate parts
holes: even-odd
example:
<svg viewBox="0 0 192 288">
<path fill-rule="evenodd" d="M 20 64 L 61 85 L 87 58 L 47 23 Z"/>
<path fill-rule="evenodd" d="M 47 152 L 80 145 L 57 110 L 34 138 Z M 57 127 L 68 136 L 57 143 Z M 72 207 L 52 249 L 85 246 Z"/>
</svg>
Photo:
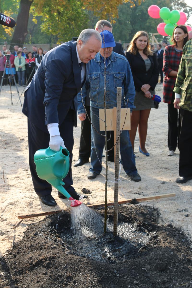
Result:
<svg viewBox="0 0 192 288">
<path fill-rule="evenodd" d="M 180 108 L 181 132 L 179 176 L 192 176 L 192 112 Z"/>
</svg>

